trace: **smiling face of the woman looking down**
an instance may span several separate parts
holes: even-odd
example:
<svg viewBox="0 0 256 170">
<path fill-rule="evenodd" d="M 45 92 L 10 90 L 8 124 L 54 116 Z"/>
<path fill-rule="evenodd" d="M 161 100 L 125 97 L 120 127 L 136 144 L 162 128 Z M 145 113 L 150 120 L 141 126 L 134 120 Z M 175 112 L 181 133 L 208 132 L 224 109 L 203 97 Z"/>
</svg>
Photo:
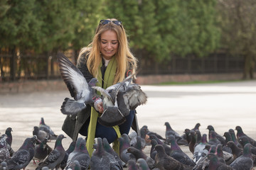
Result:
<svg viewBox="0 0 256 170">
<path fill-rule="evenodd" d="M 106 30 L 100 36 L 100 52 L 106 60 L 110 60 L 118 49 L 117 33 L 114 30 Z"/>
</svg>

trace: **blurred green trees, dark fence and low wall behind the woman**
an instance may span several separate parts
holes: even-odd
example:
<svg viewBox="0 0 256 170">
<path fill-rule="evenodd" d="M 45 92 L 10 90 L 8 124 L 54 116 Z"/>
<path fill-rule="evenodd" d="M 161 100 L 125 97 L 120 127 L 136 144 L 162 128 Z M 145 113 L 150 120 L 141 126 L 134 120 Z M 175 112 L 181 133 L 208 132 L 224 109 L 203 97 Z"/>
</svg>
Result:
<svg viewBox="0 0 256 170">
<path fill-rule="evenodd" d="M 253 79 L 255 8 L 255 0 L 0 1 L 0 91 L 66 89 L 56 54 L 75 64 L 105 18 L 127 30 L 139 84 Z"/>
</svg>

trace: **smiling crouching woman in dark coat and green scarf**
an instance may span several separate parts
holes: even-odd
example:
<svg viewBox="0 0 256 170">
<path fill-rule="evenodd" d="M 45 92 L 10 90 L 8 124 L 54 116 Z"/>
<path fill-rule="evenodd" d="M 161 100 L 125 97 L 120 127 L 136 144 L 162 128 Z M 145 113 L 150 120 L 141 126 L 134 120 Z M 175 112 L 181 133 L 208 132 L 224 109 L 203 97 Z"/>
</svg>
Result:
<svg viewBox="0 0 256 170">
<path fill-rule="evenodd" d="M 129 50 L 127 35 L 121 21 L 114 18 L 100 21 L 92 43 L 80 51 L 77 67 L 87 82 L 96 77 L 99 81 L 97 86 L 104 89 L 135 72 L 137 59 Z M 94 106 L 85 108 L 75 118 L 67 116 L 63 124 L 63 131 L 73 140 L 77 139 L 78 133 L 87 137 L 90 155 L 95 137 L 105 137 L 109 143 L 114 142 L 114 149 L 117 151 L 117 138 L 120 135 L 128 134 L 131 126 L 138 132 L 135 111 L 130 111 L 123 124 L 107 128 L 97 122 L 97 118 L 103 112 L 100 98 L 95 101 Z"/>
</svg>

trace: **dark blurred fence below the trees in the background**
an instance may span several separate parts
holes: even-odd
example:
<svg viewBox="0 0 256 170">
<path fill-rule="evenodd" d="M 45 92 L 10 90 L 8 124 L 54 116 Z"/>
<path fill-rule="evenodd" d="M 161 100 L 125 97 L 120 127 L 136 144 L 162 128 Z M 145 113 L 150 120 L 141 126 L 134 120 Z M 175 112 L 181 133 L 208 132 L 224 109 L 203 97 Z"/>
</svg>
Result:
<svg viewBox="0 0 256 170">
<path fill-rule="evenodd" d="M 74 52 L 65 55 L 75 63 Z M 198 58 L 193 56 L 171 57 L 170 61 L 158 64 L 147 58 L 139 59 L 139 75 L 149 74 L 209 74 L 242 72 L 242 57 L 213 54 Z M 60 79 L 56 53 L 44 55 L 1 53 L 0 81 L 23 79 Z"/>
</svg>

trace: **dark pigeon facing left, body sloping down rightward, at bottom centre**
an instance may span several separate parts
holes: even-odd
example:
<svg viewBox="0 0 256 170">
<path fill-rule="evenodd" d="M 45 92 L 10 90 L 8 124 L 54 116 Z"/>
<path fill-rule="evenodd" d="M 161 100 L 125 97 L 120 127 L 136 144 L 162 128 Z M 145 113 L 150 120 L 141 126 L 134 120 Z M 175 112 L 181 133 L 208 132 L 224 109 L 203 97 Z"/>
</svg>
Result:
<svg viewBox="0 0 256 170">
<path fill-rule="evenodd" d="M 131 153 L 134 155 L 135 159 L 138 160 L 139 158 L 142 158 L 146 161 L 146 164 L 148 164 L 150 169 L 154 169 L 155 167 L 155 162 L 154 159 L 151 157 L 148 157 L 144 152 L 140 151 L 139 149 L 136 149 L 135 147 L 129 147 L 127 149 L 127 152 Z"/>
</svg>

